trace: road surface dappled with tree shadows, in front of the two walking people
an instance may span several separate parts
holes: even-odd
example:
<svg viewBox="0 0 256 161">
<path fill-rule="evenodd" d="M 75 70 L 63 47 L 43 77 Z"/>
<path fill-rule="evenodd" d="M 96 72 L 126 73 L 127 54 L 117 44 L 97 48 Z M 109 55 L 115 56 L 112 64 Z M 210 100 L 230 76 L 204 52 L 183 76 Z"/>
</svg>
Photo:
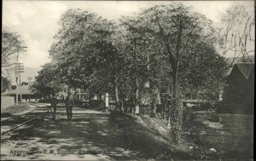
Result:
<svg viewBox="0 0 256 161">
<path fill-rule="evenodd" d="M 108 113 L 101 112 L 74 112 L 73 120 L 67 120 L 64 112 L 57 113 L 55 120 L 49 115 L 16 130 L 8 140 L 2 143 L 2 159 L 127 160 L 143 158 L 139 152 L 124 148 L 125 141 L 119 135 L 117 127 L 109 123 Z M 14 155 L 11 152 L 30 150 L 35 153 Z M 45 153 L 37 153 L 38 151 Z M 79 151 L 80 154 L 78 154 Z"/>
</svg>

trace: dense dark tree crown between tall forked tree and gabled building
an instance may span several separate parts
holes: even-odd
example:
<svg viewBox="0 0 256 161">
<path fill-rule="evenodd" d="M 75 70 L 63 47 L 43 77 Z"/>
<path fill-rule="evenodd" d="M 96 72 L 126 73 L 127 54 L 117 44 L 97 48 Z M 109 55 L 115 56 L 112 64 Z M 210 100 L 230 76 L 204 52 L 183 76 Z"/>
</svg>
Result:
<svg viewBox="0 0 256 161">
<path fill-rule="evenodd" d="M 184 93 L 218 93 L 224 85 L 227 69 L 224 57 L 218 55 L 212 44 L 197 43 L 181 60 L 180 87 Z"/>
</svg>

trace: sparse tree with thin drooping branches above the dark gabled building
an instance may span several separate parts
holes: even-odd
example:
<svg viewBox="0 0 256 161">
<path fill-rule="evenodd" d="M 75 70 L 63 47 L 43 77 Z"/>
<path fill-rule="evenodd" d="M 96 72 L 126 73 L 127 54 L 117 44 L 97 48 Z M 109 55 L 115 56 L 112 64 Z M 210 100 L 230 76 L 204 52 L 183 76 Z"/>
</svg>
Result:
<svg viewBox="0 0 256 161">
<path fill-rule="evenodd" d="M 240 57 L 243 61 L 250 60 L 249 55 L 255 51 L 254 12 L 248 11 L 244 6 L 231 7 L 224 15 L 222 25 L 222 52 L 224 55 L 232 55 L 230 66 Z"/>
</svg>

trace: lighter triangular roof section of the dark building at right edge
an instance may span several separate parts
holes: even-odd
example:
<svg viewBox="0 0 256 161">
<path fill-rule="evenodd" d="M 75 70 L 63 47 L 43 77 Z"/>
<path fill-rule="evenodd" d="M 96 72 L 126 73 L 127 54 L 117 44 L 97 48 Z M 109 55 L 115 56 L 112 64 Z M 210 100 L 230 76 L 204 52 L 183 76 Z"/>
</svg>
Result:
<svg viewBox="0 0 256 161">
<path fill-rule="evenodd" d="M 235 66 L 239 69 L 241 74 L 247 79 L 252 72 L 254 72 L 254 62 L 248 63 L 248 62 L 240 62 L 236 63 Z M 234 67 L 235 67 L 234 66 Z M 233 67 L 233 68 L 234 68 Z"/>
</svg>

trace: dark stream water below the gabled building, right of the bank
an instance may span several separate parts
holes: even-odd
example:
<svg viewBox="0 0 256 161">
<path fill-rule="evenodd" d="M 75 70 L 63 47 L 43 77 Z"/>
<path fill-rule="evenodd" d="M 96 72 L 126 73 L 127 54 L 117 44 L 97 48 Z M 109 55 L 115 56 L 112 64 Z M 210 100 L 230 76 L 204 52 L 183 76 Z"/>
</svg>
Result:
<svg viewBox="0 0 256 161">
<path fill-rule="evenodd" d="M 253 115 L 188 110 L 183 125 L 184 136 L 199 153 L 214 148 L 214 159 L 253 158 Z"/>
</svg>

